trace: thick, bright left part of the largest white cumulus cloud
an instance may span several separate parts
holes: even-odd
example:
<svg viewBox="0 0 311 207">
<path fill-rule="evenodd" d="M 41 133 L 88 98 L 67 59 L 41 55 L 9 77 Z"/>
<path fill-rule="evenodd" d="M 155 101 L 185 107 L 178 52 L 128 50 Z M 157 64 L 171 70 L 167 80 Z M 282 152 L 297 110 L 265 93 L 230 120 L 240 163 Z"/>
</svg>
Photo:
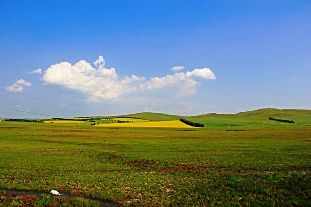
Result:
<svg viewBox="0 0 311 207">
<path fill-rule="evenodd" d="M 89 101 L 118 99 L 125 93 L 137 90 L 138 83 L 144 80 L 135 75 L 120 78 L 116 69 L 106 69 L 104 63 L 103 56 L 94 63 L 99 64 L 98 69 L 94 69 L 85 60 L 80 60 L 75 65 L 58 63 L 48 68 L 41 80 L 45 82 L 44 85 L 61 85 L 84 92 Z"/>
</svg>

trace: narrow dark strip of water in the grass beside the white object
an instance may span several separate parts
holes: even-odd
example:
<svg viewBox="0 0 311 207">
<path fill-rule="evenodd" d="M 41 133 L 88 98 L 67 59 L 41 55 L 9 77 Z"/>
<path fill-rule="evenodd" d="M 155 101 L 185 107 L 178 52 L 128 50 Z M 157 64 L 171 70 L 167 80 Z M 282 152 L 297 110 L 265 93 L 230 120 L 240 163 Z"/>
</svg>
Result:
<svg viewBox="0 0 311 207">
<path fill-rule="evenodd" d="M 2 190 L 2 189 L 1 189 Z M 23 190 L 4 190 L 6 193 L 11 193 L 11 194 L 16 194 L 16 195 L 35 195 L 35 196 L 41 196 L 43 194 L 49 194 L 45 192 L 35 192 L 35 191 L 23 191 Z M 102 207 L 119 207 L 119 204 L 113 203 L 111 201 L 104 201 L 104 200 L 97 200 L 97 199 L 92 199 L 92 198 L 86 198 L 86 197 L 81 197 L 77 195 L 70 195 L 69 193 L 62 192 L 60 196 L 54 195 L 55 197 L 65 197 L 65 198 L 84 198 L 86 200 L 91 200 L 91 201 L 96 201 L 99 204 L 102 205 Z"/>
</svg>

